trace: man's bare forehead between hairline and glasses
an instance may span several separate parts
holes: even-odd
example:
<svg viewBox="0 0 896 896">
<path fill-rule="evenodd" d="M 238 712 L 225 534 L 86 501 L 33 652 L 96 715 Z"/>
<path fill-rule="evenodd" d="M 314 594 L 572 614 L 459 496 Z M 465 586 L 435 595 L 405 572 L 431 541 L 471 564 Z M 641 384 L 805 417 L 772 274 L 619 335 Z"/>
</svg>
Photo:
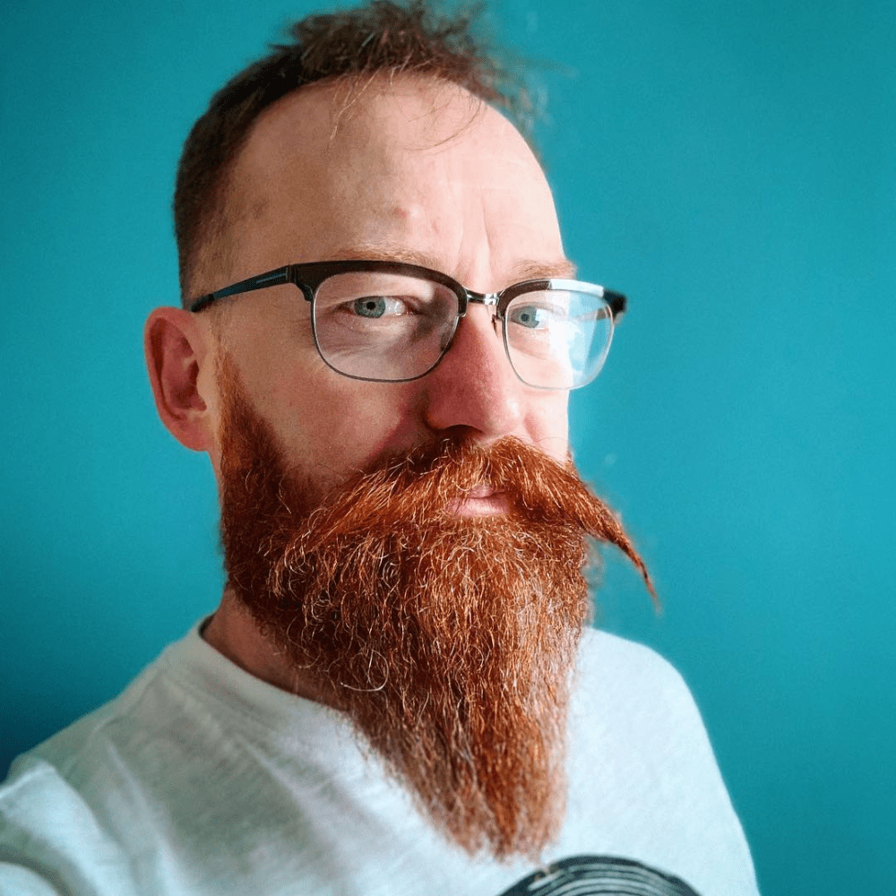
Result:
<svg viewBox="0 0 896 896">
<path fill-rule="evenodd" d="M 514 240 L 522 252 L 553 242 L 536 254 L 562 254 L 529 146 L 453 84 L 401 77 L 297 91 L 259 118 L 231 185 L 246 275 L 351 254 L 457 272 L 478 238 L 499 255 Z"/>
</svg>

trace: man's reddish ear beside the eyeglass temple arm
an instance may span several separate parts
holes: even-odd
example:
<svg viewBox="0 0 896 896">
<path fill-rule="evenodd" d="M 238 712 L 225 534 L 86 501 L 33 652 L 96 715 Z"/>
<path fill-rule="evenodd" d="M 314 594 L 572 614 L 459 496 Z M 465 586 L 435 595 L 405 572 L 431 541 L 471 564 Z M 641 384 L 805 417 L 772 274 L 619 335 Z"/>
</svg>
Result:
<svg viewBox="0 0 896 896">
<path fill-rule="evenodd" d="M 180 444 L 210 451 L 215 444 L 211 332 L 183 308 L 156 308 L 143 331 L 152 394 L 162 423 Z"/>
</svg>

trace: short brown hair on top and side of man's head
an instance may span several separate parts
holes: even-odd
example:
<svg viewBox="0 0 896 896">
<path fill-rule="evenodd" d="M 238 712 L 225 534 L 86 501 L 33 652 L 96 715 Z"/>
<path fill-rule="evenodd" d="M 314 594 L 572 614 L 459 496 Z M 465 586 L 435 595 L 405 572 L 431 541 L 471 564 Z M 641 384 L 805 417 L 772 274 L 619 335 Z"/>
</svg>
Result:
<svg viewBox="0 0 896 896">
<path fill-rule="evenodd" d="M 422 0 L 372 0 L 357 9 L 311 15 L 289 28 L 289 43 L 249 65 L 212 98 L 184 144 L 174 196 L 184 303 L 196 286 L 203 250 L 222 257 L 229 221 L 228 175 L 265 108 L 306 84 L 347 75 L 422 74 L 459 84 L 524 124 L 519 80 L 474 39 L 478 8 L 437 17 Z M 212 258 L 215 258 L 212 255 Z"/>
</svg>

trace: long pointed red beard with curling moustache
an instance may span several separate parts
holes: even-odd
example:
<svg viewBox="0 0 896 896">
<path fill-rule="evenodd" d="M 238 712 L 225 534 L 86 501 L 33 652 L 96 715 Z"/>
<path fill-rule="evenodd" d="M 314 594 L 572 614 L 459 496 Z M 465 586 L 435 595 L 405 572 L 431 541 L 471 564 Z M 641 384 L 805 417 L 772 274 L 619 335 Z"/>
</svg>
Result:
<svg viewBox="0 0 896 896">
<path fill-rule="evenodd" d="M 538 857 L 564 817 L 588 538 L 648 581 L 616 517 L 513 439 L 427 446 L 314 500 L 228 363 L 221 385 L 229 589 L 451 840 Z M 482 484 L 507 513 L 449 512 Z"/>
</svg>

